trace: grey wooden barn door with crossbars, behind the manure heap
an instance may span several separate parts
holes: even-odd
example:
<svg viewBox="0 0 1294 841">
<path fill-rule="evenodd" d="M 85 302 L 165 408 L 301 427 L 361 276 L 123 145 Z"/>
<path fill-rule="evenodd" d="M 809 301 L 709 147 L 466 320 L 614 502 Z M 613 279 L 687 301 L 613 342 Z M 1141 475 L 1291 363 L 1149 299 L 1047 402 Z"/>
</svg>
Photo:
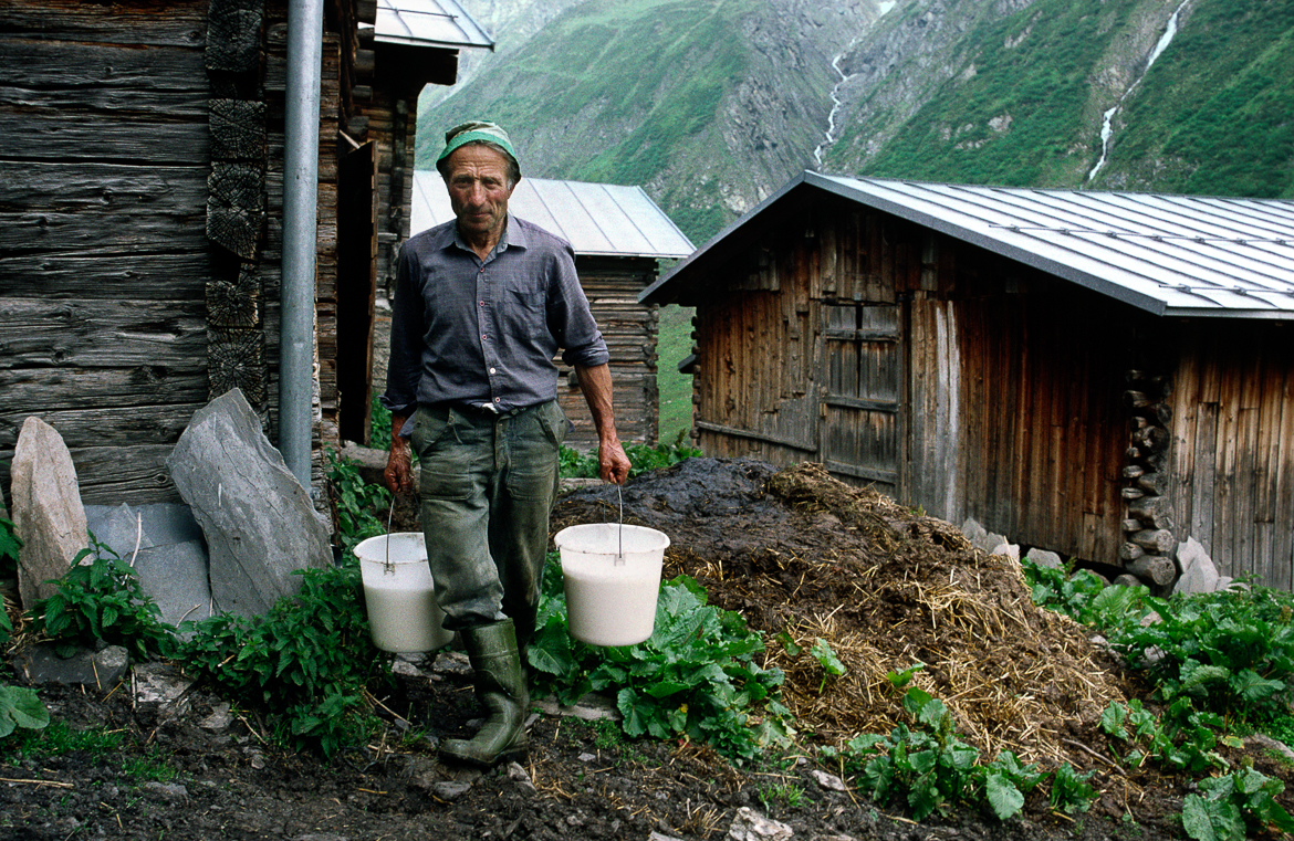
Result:
<svg viewBox="0 0 1294 841">
<path fill-rule="evenodd" d="M 899 490 L 901 314 L 894 304 L 823 305 L 822 461 L 841 479 L 890 497 Z"/>
</svg>

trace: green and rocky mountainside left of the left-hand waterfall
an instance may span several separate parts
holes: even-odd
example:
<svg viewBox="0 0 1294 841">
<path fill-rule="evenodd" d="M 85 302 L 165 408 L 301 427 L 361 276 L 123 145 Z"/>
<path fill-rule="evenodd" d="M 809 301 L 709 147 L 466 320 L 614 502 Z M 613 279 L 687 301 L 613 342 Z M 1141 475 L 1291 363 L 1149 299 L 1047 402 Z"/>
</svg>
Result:
<svg viewBox="0 0 1294 841">
<path fill-rule="evenodd" d="M 641 184 L 704 239 L 811 166 L 831 60 L 876 17 L 867 3 L 839 6 L 589 0 L 423 109 L 419 126 L 497 119 L 524 172 Z M 419 167 L 439 140 L 419 133 Z"/>
</svg>

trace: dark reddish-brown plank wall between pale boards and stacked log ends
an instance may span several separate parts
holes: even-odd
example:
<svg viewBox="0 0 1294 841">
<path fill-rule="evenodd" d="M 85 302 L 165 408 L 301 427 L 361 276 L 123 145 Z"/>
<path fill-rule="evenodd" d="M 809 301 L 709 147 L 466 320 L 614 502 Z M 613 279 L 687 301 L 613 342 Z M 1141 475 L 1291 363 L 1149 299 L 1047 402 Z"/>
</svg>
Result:
<svg viewBox="0 0 1294 841">
<path fill-rule="evenodd" d="M 958 256 L 963 267 L 977 261 L 989 270 L 969 286 L 1000 289 L 994 273 L 1017 272 L 982 255 Z M 930 313 L 952 323 L 960 362 L 958 486 L 950 493 L 960 505 L 945 516 L 973 516 L 1012 542 L 1117 564 L 1128 446 L 1119 399 L 1130 367 L 1127 349 L 1112 340 L 1126 335 L 1115 327 L 1118 305 L 1027 272 L 1012 286 L 1018 291 L 982 296 L 970 289 Z M 938 330 L 929 316 L 924 321 L 927 334 Z M 1101 327 L 1080 327 L 1088 325 Z"/>
</svg>

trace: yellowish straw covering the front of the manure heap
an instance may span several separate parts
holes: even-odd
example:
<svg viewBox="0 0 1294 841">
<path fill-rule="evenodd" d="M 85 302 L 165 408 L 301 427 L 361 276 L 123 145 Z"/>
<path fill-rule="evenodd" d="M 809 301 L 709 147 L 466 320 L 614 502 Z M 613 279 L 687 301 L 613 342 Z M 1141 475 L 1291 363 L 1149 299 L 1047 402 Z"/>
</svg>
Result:
<svg viewBox="0 0 1294 841">
<path fill-rule="evenodd" d="M 767 490 L 855 538 L 835 556 L 783 554 L 775 573 L 723 585 L 785 606 L 785 628 L 761 630 L 785 630 L 804 651 L 792 657 L 773 639 L 767 665 L 785 672 L 784 701 L 815 740 L 841 745 L 906 721 L 886 674 L 917 662 L 914 683 L 947 705 L 959 737 L 986 759 L 1005 749 L 1053 767 L 1074 753 L 1065 739 L 1126 700 L 1083 629 L 1033 604 L 1018 562 L 818 464 L 776 474 Z M 807 651 L 818 638 L 848 669 L 822 692 L 823 666 Z"/>
</svg>

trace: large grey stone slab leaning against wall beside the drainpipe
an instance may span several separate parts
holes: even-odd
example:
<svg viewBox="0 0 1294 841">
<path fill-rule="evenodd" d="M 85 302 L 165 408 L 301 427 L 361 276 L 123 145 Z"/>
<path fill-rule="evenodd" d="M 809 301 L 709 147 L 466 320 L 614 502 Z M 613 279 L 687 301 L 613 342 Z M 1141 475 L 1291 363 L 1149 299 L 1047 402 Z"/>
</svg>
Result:
<svg viewBox="0 0 1294 841">
<path fill-rule="evenodd" d="M 216 612 L 265 613 L 300 590 L 292 573 L 333 563 L 309 494 L 237 388 L 193 415 L 167 467 L 206 537 Z"/>
</svg>

